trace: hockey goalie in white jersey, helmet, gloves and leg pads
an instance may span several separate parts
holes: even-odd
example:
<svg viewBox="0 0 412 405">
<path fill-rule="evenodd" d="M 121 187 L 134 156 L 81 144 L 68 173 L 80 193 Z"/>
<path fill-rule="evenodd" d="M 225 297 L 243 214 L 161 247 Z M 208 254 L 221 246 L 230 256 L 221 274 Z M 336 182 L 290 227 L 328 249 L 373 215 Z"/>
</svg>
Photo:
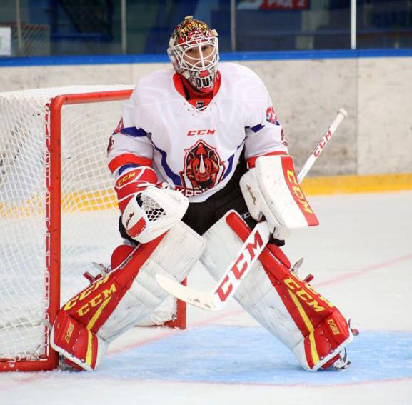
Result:
<svg viewBox="0 0 412 405">
<path fill-rule="evenodd" d="M 155 274 L 181 281 L 200 260 L 219 279 L 265 219 L 271 238 L 234 298 L 304 369 L 345 368 L 348 321 L 281 250 L 291 229 L 318 219 L 266 87 L 244 66 L 218 65 L 216 31 L 191 16 L 168 54 L 173 69 L 139 81 L 109 139 L 124 244 L 61 307 L 51 345 L 71 366 L 96 369 L 111 341 L 167 298 Z"/>
</svg>

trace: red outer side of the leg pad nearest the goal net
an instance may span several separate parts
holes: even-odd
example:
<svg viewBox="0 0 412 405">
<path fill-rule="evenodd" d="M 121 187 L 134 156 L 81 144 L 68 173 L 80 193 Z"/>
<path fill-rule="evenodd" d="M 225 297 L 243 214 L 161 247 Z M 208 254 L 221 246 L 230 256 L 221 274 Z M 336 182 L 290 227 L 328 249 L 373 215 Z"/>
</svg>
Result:
<svg viewBox="0 0 412 405">
<path fill-rule="evenodd" d="M 51 330 L 51 346 L 68 359 L 69 363 L 87 371 L 92 371 L 99 365 L 110 341 L 98 336 L 99 329 L 130 289 L 141 266 L 161 239 L 162 236 L 150 244 L 141 244 L 136 248 L 121 246 L 116 249 L 114 260 L 119 260 L 120 255 L 116 252 L 123 249 L 124 254 L 121 256 L 124 259 L 130 256 L 129 261 L 122 266 L 112 260 L 111 264 L 117 265 L 114 271 L 96 279 L 62 306 Z"/>
</svg>

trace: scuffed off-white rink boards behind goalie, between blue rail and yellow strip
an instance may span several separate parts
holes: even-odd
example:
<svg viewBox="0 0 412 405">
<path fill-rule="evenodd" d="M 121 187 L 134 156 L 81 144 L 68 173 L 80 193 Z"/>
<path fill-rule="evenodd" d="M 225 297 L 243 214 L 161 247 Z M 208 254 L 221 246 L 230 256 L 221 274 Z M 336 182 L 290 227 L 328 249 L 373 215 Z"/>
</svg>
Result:
<svg viewBox="0 0 412 405">
<path fill-rule="evenodd" d="M 311 176 L 412 173 L 412 55 L 233 61 L 256 71 L 266 84 L 297 168 L 343 107 L 348 118 Z M 0 91 L 134 84 L 168 66 L 166 61 L 116 59 L 106 64 L 3 65 Z"/>
</svg>

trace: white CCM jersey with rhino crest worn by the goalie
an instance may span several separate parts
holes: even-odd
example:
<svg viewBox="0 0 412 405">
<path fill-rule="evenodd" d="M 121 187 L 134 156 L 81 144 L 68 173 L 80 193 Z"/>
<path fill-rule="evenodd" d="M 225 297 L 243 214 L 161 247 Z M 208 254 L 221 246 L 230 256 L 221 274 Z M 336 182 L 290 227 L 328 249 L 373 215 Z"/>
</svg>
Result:
<svg viewBox="0 0 412 405">
<path fill-rule="evenodd" d="M 173 69 L 141 79 L 109 142 L 115 176 L 128 164 L 151 164 L 159 181 L 201 202 L 228 183 L 243 148 L 246 159 L 287 153 L 261 79 L 238 64 L 219 64 L 219 72 L 220 88 L 203 110 L 179 94 Z"/>
</svg>

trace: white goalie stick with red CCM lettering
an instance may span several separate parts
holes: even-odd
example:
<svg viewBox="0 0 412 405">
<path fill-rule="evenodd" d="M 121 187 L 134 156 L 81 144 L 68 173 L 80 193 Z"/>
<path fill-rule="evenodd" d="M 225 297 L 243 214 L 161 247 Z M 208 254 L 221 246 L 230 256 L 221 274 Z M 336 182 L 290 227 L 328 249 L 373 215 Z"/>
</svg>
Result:
<svg viewBox="0 0 412 405">
<path fill-rule="evenodd" d="M 305 178 L 308 171 L 311 169 L 315 161 L 318 159 L 319 155 L 325 148 L 331 136 L 334 134 L 338 126 L 341 124 L 342 120 L 348 114 L 344 109 L 339 109 L 336 118 L 333 120 L 331 126 L 328 127 L 326 132 L 321 137 L 318 144 L 316 144 L 315 149 L 311 152 L 311 155 L 306 160 L 301 171 L 298 174 L 299 184 Z M 233 296 L 233 294 L 238 289 L 241 281 L 246 277 L 248 272 L 251 270 L 253 264 L 258 259 L 266 244 L 271 236 L 271 231 L 268 227 L 266 221 L 261 221 L 253 228 L 253 231 L 248 236 L 243 246 L 238 251 L 235 259 L 228 266 L 223 276 L 218 280 L 215 288 L 211 291 L 199 291 L 196 289 L 191 289 L 188 286 L 183 286 L 179 284 L 175 279 L 171 279 L 163 274 L 156 274 L 156 281 L 161 286 L 162 289 L 169 292 L 169 294 L 175 296 L 181 301 L 185 301 L 188 304 L 198 306 L 202 309 L 207 309 L 208 311 L 220 311 L 226 306 L 228 300 Z M 238 271 L 236 264 L 243 260 L 246 266 L 242 268 L 242 271 Z"/>
</svg>

